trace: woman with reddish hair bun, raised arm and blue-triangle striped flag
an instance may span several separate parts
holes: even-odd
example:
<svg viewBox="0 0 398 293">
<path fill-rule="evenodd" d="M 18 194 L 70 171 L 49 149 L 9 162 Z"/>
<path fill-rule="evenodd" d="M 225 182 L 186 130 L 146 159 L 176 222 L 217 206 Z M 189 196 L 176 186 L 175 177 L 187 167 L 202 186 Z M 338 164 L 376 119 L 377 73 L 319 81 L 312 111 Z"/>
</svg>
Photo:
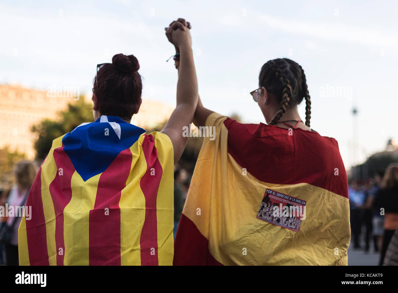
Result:
<svg viewBox="0 0 398 293">
<path fill-rule="evenodd" d="M 27 200 L 31 218 L 21 221 L 21 265 L 172 264 L 174 163 L 198 88 L 188 23 L 172 22 L 166 35 L 180 62 L 166 126 L 147 134 L 130 123 L 142 102 L 137 57 L 97 65 L 95 122 L 54 140 Z"/>
</svg>

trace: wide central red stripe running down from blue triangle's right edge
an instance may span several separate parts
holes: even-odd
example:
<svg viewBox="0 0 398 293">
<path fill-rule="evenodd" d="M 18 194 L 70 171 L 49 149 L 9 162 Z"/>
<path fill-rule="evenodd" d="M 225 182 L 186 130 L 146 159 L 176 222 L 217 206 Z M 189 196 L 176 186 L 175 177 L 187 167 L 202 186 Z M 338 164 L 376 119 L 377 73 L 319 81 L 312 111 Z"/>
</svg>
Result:
<svg viewBox="0 0 398 293">
<path fill-rule="evenodd" d="M 125 149 L 100 175 L 94 209 L 90 210 L 90 265 L 121 265 L 119 201 L 132 159 L 130 149 Z"/>
</svg>

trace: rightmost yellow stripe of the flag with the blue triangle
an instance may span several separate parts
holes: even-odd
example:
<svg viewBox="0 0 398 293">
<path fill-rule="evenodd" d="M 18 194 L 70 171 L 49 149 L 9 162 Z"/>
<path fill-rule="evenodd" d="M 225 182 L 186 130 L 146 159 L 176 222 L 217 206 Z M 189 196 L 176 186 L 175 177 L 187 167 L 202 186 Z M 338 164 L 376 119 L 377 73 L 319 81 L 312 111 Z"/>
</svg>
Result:
<svg viewBox="0 0 398 293">
<path fill-rule="evenodd" d="M 159 265 L 172 265 L 174 255 L 174 152 L 170 138 L 161 132 L 152 132 L 158 159 L 162 166 L 162 178 L 156 198 L 158 223 Z"/>
</svg>

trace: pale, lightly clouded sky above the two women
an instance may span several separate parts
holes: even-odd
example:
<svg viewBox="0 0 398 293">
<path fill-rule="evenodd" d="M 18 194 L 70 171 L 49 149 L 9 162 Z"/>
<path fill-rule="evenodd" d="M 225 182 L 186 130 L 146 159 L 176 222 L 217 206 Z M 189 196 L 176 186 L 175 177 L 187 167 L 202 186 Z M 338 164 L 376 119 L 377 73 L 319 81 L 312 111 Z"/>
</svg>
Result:
<svg viewBox="0 0 398 293">
<path fill-rule="evenodd" d="M 249 92 L 265 62 L 292 59 L 306 74 L 311 128 L 336 138 L 349 169 L 398 140 L 397 10 L 397 1 L 2 0 L 0 84 L 91 93 L 97 64 L 133 54 L 142 98 L 175 106 L 164 28 L 185 18 L 205 107 L 265 123 Z M 305 120 L 304 102 L 298 110 Z"/>
</svg>

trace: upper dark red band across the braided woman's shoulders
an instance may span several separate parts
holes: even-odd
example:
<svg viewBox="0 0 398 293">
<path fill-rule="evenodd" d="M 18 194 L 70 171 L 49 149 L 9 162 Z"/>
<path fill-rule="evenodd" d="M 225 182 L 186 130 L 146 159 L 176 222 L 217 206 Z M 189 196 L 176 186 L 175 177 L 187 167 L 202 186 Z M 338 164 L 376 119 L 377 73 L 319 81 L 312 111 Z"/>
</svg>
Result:
<svg viewBox="0 0 398 293">
<path fill-rule="evenodd" d="M 316 132 L 242 124 L 230 118 L 228 153 L 260 181 L 308 183 L 348 198 L 347 174 L 337 141 Z M 339 175 L 335 175 L 336 168 Z"/>
</svg>

